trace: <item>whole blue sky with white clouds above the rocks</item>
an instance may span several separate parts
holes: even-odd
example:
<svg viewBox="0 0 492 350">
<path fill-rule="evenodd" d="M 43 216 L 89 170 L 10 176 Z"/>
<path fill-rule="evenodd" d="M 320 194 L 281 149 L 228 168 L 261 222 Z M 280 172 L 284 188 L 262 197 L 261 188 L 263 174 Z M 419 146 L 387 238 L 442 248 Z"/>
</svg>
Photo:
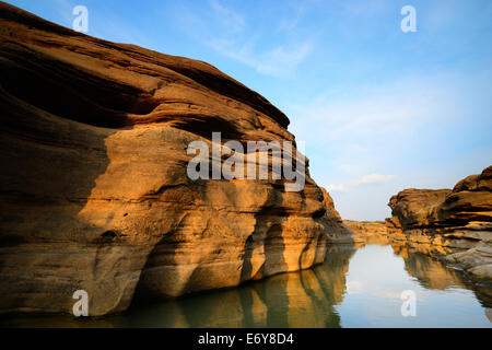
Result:
<svg viewBox="0 0 492 350">
<path fill-rule="evenodd" d="M 259 92 L 306 142 L 345 219 L 492 164 L 492 1 L 8 1 L 90 35 L 204 60 Z M 403 33 L 403 5 L 417 32 Z"/>
</svg>

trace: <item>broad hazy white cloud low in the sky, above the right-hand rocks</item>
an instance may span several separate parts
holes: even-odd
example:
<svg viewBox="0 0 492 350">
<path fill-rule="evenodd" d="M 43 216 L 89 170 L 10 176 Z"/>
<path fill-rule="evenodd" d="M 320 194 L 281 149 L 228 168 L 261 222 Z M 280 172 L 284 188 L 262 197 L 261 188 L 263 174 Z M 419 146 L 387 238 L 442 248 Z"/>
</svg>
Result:
<svg viewBox="0 0 492 350">
<path fill-rule="evenodd" d="M 452 187 L 488 164 L 490 142 L 478 126 L 490 129 L 491 75 L 437 71 L 339 83 L 283 109 L 290 131 L 307 140 L 312 177 L 344 187 L 332 196 L 342 218 L 380 220 L 398 191 Z M 485 147 L 478 150 L 479 139 Z"/>
</svg>

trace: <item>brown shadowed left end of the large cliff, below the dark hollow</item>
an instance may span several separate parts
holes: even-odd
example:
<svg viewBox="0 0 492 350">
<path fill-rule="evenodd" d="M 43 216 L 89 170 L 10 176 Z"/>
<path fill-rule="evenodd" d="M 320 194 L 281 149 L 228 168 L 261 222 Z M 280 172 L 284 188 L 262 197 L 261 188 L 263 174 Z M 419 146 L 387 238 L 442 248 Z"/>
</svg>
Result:
<svg viewBox="0 0 492 350">
<path fill-rule="evenodd" d="M 25 90 L 31 82 L 22 80 Z M 106 172 L 105 140 L 116 130 L 59 118 L 13 92 L 2 82 L 0 159 L 8 166 L 0 174 L 0 310 L 69 312 L 72 293 L 87 290 L 95 301 L 93 288 L 110 280 L 101 267 L 131 249 L 117 232 L 78 215 Z"/>
</svg>

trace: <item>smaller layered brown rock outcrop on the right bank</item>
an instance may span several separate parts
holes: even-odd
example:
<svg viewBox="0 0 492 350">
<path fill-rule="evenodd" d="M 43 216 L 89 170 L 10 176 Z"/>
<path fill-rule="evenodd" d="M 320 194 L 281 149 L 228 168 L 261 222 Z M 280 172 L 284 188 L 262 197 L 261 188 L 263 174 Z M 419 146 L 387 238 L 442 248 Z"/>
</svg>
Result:
<svg viewBox="0 0 492 350">
<path fill-rule="evenodd" d="M 445 261 L 492 281 L 492 166 L 453 190 L 406 189 L 388 206 L 410 244 L 445 254 Z"/>
</svg>

